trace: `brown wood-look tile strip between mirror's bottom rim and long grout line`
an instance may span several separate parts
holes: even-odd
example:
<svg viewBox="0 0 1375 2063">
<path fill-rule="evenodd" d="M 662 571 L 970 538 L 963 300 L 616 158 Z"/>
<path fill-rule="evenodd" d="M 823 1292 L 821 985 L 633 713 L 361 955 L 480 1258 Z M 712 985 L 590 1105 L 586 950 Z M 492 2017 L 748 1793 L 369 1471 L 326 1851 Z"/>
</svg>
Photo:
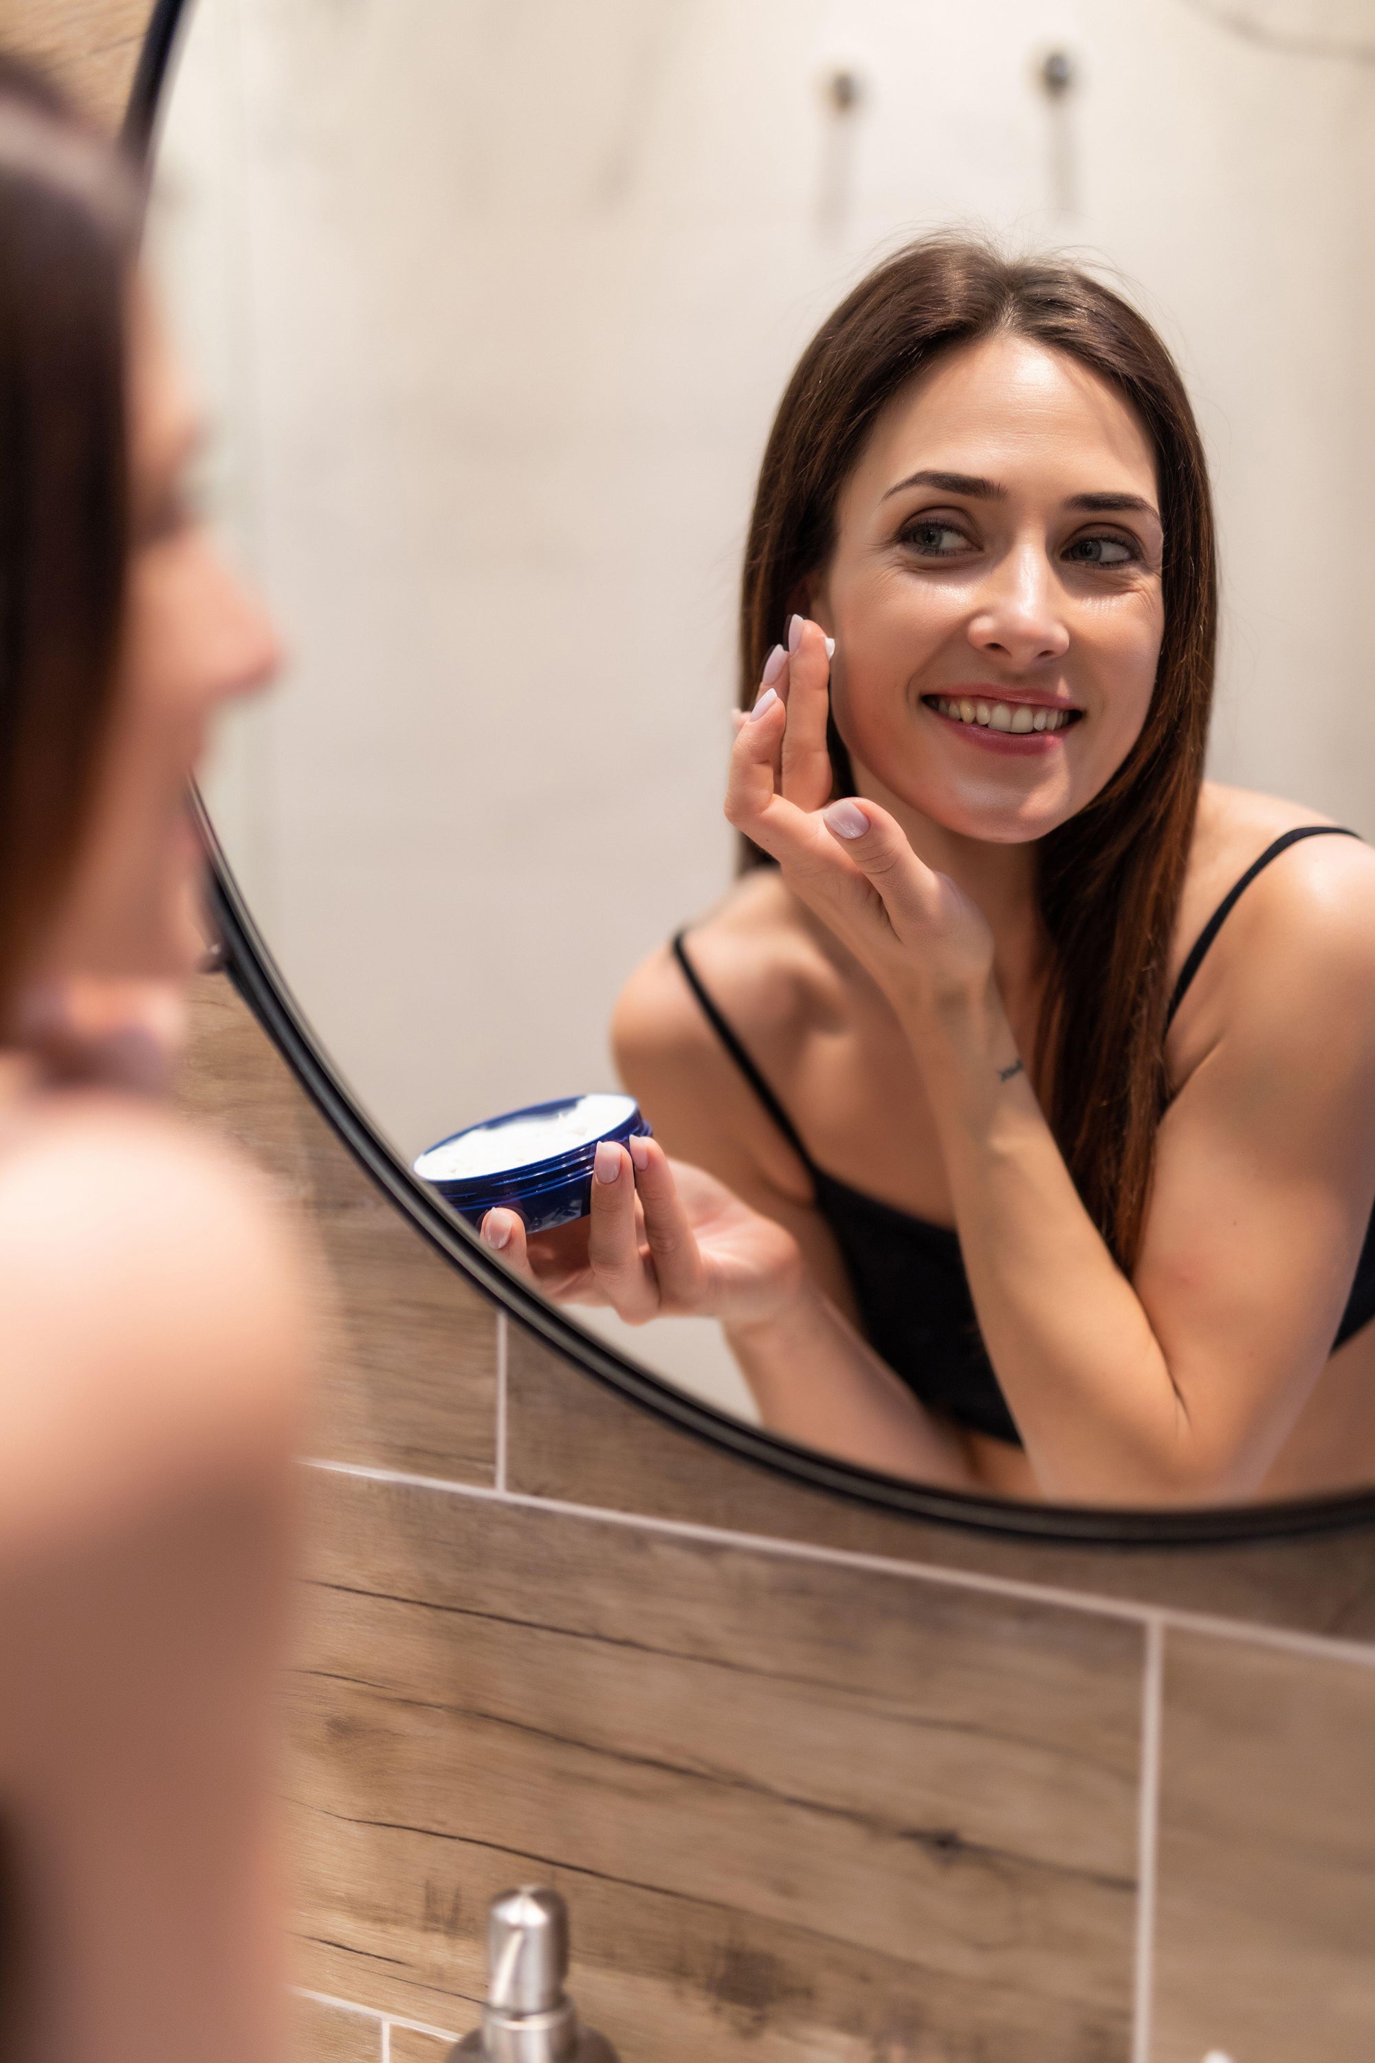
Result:
<svg viewBox="0 0 1375 2063">
<path fill-rule="evenodd" d="M 507 1487 L 932 1568 L 1375 1644 L 1375 1529 L 1227 1547 L 1074 1547 L 928 1525 L 804 1489 L 573 1376 L 511 1327 Z"/>
</svg>

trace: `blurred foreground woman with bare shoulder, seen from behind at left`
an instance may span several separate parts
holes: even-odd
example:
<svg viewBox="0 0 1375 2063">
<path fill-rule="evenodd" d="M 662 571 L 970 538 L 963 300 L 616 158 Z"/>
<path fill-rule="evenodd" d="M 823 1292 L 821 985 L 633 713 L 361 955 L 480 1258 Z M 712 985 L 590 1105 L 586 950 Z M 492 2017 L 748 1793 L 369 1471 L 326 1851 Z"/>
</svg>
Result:
<svg viewBox="0 0 1375 2063">
<path fill-rule="evenodd" d="M 307 1298 L 161 1108 L 188 778 L 274 670 L 115 153 L 0 58 L 0 2055 L 272 2057 L 274 1698 Z"/>
</svg>

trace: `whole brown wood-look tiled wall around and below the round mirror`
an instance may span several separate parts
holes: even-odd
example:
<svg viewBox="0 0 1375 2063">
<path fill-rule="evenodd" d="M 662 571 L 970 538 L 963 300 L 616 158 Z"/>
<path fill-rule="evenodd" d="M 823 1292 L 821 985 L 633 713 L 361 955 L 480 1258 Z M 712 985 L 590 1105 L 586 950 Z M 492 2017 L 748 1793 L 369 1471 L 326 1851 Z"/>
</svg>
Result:
<svg viewBox="0 0 1375 2063">
<path fill-rule="evenodd" d="M 0 37 L 115 120 L 146 12 L 0 0 Z M 1369 1531 L 1163 1553 L 884 1518 L 515 1331 L 503 1399 L 493 1310 L 221 980 L 186 1102 L 297 1194 L 338 1283 L 293 1700 L 299 2063 L 439 2063 L 484 1900 L 524 1875 L 569 1894 L 623 2063 L 1375 2055 Z"/>
</svg>

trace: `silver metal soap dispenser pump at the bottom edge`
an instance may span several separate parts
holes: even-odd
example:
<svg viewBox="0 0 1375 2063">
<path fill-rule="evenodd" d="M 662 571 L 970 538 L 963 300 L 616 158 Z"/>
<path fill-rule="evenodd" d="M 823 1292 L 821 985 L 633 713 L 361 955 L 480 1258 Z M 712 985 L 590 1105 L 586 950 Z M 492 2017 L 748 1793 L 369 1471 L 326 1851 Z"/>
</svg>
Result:
<svg viewBox="0 0 1375 2063">
<path fill-rule="evenodd" d="M 487 1919 L 482 2026 L 449 2049 L 447 2063 L 616 2063 L 602 2034 L 577 2024 L 565 1997 L 569 1914 L 559 1892 L 522 1886 L 493 1898 Z"/>
</svg>

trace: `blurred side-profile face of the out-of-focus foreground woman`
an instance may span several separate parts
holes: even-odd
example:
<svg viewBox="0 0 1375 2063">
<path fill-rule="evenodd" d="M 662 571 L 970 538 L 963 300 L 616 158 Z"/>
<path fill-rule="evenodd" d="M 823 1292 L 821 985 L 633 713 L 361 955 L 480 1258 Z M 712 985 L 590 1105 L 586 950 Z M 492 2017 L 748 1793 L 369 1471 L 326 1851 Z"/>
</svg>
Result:
<svg viewBox="0 0 1375 2063">
<path fill-rule="evenodd" d="M 202 951 L 186 784 L 214 712 L 266 685 L 278 648 L 188 501 L 198 437 L 159 316 L 136 287 L 124 646 L 89 829 L 39 980 L 177 978 Z"/>
</svg>

